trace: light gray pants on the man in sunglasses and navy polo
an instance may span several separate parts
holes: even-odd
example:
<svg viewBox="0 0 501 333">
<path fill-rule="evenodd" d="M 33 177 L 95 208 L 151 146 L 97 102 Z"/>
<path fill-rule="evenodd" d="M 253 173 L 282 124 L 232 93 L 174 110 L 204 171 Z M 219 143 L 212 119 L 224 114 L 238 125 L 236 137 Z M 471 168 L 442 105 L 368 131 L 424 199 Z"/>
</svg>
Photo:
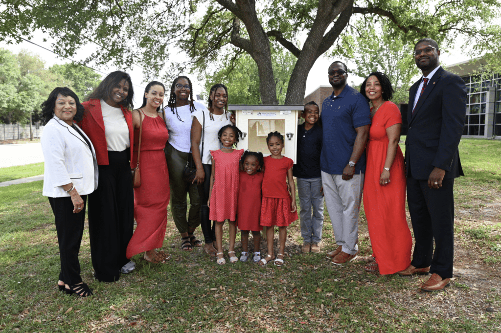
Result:
<svg viewBox="0 0 501 333">
<path fill-rule="evenodd" d="M 358 252 L 358 213 L 362 200 L 364 174 L 343 180 L 343 175 L 331 175 L 322 171 L 325 205 L 331 218 L 336 243 L 343 252 Z"/>
</svg>

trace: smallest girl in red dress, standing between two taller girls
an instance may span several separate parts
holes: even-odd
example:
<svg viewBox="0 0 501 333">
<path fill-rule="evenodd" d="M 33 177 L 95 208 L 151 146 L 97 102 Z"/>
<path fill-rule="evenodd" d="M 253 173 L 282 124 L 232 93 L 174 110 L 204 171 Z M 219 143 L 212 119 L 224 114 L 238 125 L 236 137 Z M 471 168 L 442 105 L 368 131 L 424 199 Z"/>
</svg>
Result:
<svg viewBox="0 0 501 333">
<path fill-rule="evenodd" d="M 261 167 L 265 164 L 263 153 L 246 151 L 241 158 L 243 171 L 240 171 L 238 185 L 238 209 L 237 226 L 241 230 L 242 253 L 240 261 L 247 261 L 249 231 L 254 238 L 254 262 L 261 260 L 261 186 L 263 185 L 263 173 Z"/>
</svg>

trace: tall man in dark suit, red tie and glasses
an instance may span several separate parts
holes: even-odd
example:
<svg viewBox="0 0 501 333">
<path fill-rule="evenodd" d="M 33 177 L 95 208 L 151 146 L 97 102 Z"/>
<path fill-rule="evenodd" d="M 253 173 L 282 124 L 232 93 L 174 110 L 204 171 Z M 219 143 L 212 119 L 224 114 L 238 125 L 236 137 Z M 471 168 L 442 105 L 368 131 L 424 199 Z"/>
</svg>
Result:
<svg viewBox="0 0 501 333">
<path fill-rule="evenodd" d="M 416 244 L 400 275 L 432 273 L 423 291 L 449 285 L 454 257 L 454 178 L 464 175 L 457 146 L 466 114 L 464 81 L 440 67 L 438 44 L 424 38 L 414 47 L 423 77 L 409 90 L 405 140 L 407 203 Z M 435 251 L 433 251 L 433 241 Z"/>
</svg>

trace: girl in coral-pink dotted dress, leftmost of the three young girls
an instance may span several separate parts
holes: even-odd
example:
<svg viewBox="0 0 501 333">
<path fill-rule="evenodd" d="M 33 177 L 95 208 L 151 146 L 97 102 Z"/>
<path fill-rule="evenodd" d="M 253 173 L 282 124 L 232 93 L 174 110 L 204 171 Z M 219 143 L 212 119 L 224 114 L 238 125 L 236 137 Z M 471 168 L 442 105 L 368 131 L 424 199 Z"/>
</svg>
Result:
<svg viewBox="0 0 501 333">
<path fill-rule="evenodd" d="M 212 173 L 210 177 L 209 198 L 209 219 L 216 221 L 216 249 L 217 264 L 223 265 L 224 253 L 222 251 L 222 225 L 225 220 L 229 221 L 229 262 L 238 261 L 235 255 L 236 237 L 236 204 L 238 196 L 238 176 L 239 161 L 243 154 L 243 149 L 235 150 L 233 144 L 238 142 L 238 136 L 242 132 L 235 125 L 225 125 L 217 133 L 222 148 L 211 150 Z"/>
</svg>

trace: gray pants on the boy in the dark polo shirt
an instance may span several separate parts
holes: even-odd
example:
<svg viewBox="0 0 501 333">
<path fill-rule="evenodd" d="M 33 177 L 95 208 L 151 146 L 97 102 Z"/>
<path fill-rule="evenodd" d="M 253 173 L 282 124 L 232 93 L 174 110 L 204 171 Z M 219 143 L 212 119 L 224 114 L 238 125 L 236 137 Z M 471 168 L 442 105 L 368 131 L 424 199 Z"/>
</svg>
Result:
<svg viewBox="0 0 501 333">
<path fill-rule="evenodd" d="M 301 236 L 307 243 L 320 243 L 322 227 L 324 226 L 322 178 L 296 178 L 296 180 L 298 182 Z"/>
</svg>

